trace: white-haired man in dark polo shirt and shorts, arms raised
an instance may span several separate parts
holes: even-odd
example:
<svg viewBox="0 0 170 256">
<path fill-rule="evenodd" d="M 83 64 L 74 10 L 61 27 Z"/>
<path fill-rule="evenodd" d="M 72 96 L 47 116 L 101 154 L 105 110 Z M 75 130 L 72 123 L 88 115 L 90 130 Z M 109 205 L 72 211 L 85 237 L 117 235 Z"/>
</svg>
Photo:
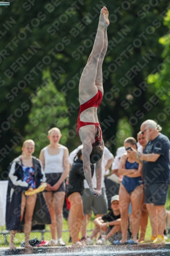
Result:
<svg viewBox="0 0 170 256">
<path fill-rule="evenodd" d="M 148 139 L 143 154 L 128 151 L 143 161 L 144 202 L 150 215 L 152 236 L 140 243 L 165 243 L 163 231 L 166 221 L 165 201 L 169 185 L 169 139 L 154 120 L 142 123 L 140 130 Z"/>
</svg>

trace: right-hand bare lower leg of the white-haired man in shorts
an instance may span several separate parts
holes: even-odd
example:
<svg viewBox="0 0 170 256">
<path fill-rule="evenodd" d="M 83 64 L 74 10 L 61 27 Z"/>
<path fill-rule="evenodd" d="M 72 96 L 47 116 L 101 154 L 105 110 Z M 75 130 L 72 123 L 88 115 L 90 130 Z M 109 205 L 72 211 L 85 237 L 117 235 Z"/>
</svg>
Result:
<svg viewBox="0 0 170 256">
<path fill-rule="evenodd" d="M 166 210 L 164 205 L 156 205 L 155 208 L 158 212 L 158 234 L 163 236 L 166 223 Z"/>
</svg>

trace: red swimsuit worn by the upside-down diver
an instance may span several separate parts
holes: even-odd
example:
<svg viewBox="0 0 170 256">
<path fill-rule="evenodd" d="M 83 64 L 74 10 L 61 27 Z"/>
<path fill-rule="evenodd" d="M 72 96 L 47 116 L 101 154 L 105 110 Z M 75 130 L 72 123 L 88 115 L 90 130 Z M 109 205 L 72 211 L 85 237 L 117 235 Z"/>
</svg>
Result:
<svg viewBox="0 0 170 256">
<path fill-rule="evenodd" d="M 88 101 L 86 101 L 85 103 L 80 105 L 79 116 L 78 116 L 78 119 L 77 119 L 77 134 L 78 134 L 78 136 L 79 136 L 80 127 L 85 126 L 85 125 L 89 125 L 89 124 L 94 124 L 96 129 L 100 130 L 100 141 L 101 141 L 102 131 L 101 131 L 101 128 L 100 128 L 100 124 L 99 123 L 92 123 L 92 122 L 82 122 L 82 121 L 80 121 L 80 114 L 84 110 L 87 110 L 87 109 L 91 108 L 92 106 L 95 106 L 95 108 L 99 108 L 99 106 L 102 102 L 102 97 L 103 97 L 102 92 L 100 90 L 98 90 L 98 93 L 96 95 L 94 95 L 94 97 L 92 97 L 91 99 L 89 99 Z M 95 143 L 98 141 L 98 139 L 99 139 L 99 137 L 96 137 Z"/>
</svg>

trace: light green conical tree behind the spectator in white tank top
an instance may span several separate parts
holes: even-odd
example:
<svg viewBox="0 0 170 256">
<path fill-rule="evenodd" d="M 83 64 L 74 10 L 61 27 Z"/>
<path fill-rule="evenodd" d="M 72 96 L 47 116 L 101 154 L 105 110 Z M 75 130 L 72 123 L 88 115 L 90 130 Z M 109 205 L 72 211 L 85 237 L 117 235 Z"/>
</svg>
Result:
<svg viewBox="0 0 170 256">
<path fill-rule="evenodd" d="M 67 109 L 65 97 L 56 89 L 49 70 L 43 71 L 42 80 L 44 86 L 32 98 L 29 122 L 25 127 L 27 133 L 25 139 L 35 141 L 34 154 L 37 157 L 39 157 L 40 150 L 48 144 L 47 132 L 52 127 L 57 126 L 62 131 L 60 142 L 66 143 L 68 131 L 66 127 L 69 124 L 69 119 L 65 115 Z"/>
</svg>

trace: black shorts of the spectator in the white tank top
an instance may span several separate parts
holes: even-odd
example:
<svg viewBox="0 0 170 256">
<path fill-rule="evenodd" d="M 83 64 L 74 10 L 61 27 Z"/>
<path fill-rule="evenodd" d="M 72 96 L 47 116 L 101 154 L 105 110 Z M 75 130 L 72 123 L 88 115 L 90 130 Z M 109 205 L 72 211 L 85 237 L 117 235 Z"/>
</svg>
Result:
<svg viewBox="0 0 170 256">
<path fill-rule="evenodd" d="M 51 174 L 45 174 L 46 177 L 46 183 L 50 184 L 51 186 L 53 186 L 54 184 L 57 183 L 57 181 L 59 181 L 60 177 L 61 177 L 62 173 L 51 173 Z M 65 192 L 65 182 L 63 181 L 59 187 L 58 190 L 54 190 L 54 191 L 46 191 L 44 190 L 44 192 Z"/>
</svg>

